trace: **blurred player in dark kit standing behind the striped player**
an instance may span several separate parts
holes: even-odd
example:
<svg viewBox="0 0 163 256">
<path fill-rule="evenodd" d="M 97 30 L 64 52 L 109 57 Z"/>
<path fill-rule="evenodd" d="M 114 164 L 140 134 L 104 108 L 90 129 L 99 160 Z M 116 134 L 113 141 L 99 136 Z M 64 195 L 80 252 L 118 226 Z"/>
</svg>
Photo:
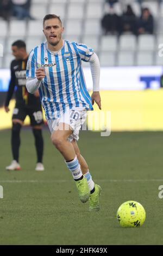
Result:
<svg viewBox="0 0 163 256">
<path fill-rule="evenodd" d="M 15 87 L 16 93 L 16 105 L 12 114 L 12 132 L 11 132 L 11 148 L 13 160 L 7 170 L 20 170 L 19 164 L 19 149 L 20 149 L 20 131 L 23 125 L 23 121 L 27 115 L 30 118 L 30 125 L 32 126 L 33 135 L 35 138 L 35 147 L 37 154 L 37 163 L 35 170 L 44 170 L 42 164 L 43 156 L 43 137 L 42 137 L 42 107 L 39 97 L 39 92 L 30 94 L 26 89 L 26 67 L 28 60 L 28 53 L 26 51 L 26 44 L 22 40 L 17 40 L 12 44 L 12 54 L 15 59 L 11 62 L 11 80 L 7 97 L 5 100 L 5 111 L 9 112 L 9 102 L 14 93 Z"/>
</svg>

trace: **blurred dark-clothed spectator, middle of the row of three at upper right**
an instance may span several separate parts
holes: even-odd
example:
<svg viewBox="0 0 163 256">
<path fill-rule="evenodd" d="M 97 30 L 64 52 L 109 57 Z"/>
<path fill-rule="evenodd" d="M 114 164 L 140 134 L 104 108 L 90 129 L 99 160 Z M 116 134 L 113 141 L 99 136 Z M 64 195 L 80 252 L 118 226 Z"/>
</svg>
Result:
<svg viewBox="0 0 163 256">
<path fill-rule="evenodd" d="M 121 33 L 136 33 L 136 15 L 131 5 L 127 5 L 127 10 L 121 16 Z"/>
</svg>

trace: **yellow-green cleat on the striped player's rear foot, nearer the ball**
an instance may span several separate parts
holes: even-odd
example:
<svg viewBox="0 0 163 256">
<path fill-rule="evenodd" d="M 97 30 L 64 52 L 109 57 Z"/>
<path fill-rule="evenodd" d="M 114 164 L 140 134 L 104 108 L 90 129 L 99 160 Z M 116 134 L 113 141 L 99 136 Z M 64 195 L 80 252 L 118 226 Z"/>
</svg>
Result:
<svg viewBox="0 0 163 256">
<path fill-rule="evenodd" d="M 89 202 L 89 211 L 99 211 L 100 210 L 100 204 L 99 204 L 99 196 L 101 193 L 101 186 L 95 184 L 95 191 L 90 194 Z"/>
</svg>

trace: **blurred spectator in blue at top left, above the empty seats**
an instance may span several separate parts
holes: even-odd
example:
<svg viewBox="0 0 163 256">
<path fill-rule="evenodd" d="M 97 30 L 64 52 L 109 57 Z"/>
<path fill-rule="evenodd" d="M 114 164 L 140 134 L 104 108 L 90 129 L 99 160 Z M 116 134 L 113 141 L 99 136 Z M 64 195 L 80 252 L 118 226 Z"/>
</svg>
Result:
<svg viewBox="0 0 163 256">
<path fill-rule="evenodd" d="M 33 20 L 29 13 L 31 0 L 11 0 L 11 2 L 13 16 L 16 16 L 18 20 L 26 18 Z"/>
</svg>

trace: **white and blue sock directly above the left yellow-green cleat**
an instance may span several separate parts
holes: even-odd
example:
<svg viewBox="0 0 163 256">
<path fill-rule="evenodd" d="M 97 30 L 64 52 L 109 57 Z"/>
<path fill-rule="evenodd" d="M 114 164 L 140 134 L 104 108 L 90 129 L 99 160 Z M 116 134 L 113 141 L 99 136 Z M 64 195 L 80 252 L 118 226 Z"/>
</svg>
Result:
<svg viewBox="0 0 163 256">
<path fill-rule="evenodd" d="M 73 179 L 77 180 L 82 177 L 83 174 L 77 156 L 71 162 L 66 162 L 66 165 L 68 169 L 72 172 Z"/>
</svg>

